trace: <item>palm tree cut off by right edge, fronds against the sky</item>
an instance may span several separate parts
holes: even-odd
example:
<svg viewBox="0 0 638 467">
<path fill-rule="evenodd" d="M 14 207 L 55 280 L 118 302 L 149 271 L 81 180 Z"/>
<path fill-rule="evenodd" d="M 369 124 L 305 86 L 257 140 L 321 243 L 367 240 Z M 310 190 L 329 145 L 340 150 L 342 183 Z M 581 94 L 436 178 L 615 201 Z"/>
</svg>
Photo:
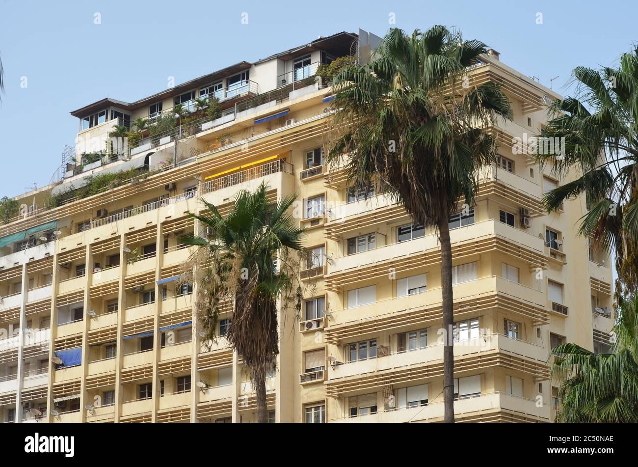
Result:
<svg viewBox="0 0 638 467">
<path fill-rule="evenodd" d="M 638 48 L 623 54 L 615 68 L 579 66 L 573 75 L 575 97 L 554 101 L 554 118 L 541 133 L 565 138 L 564 154 L 554 144 L 537 159 L 558 177 L 574 170 L 580 176 L 547 193 L 544 204 L 553 211 L 585 193 L 588 212 L 580 233 L 595 248 L 616 250 L 619 299 L 638 291 Z"/>
</svg>

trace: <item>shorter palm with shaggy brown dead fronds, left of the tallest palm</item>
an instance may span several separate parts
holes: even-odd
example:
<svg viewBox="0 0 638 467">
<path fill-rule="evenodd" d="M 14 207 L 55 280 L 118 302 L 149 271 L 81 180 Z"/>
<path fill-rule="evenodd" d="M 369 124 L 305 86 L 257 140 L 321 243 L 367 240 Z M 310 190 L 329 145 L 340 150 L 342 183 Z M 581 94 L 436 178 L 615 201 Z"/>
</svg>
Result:
<svg viewBox="0 0 638 467">
<path fill-rule="evenodd" d="M 292 296 L 286 258 L 289 252 L 304 251 L 300 243 L 304 230 L 295 226 L 288 212 L 295 197 L 269 202 L 262 183 L 254 193 L 237 193 L 225 218 L 214 205 L 202 200 L 211 214 L 190 215 L 210 235 L 187 235 L 181 240 L 198 247 L 193 261 L 204 264 L 196 273 L 200 335 L 214 341 L 220 305 L 235 304 L 226 337 L 249 369 L 258 422 L 268 420 L 265 376 L 274 369 L 279 353 L 277 300 Z M 295 308 L 299 309 L 300 303 Z"/>
</svg>

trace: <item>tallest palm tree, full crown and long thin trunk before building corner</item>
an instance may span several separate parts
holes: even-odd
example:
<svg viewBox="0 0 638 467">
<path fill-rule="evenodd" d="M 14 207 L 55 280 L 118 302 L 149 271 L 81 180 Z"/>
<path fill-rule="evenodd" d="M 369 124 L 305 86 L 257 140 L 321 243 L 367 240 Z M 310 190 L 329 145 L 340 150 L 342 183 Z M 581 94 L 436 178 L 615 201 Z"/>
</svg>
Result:
<svg viewBox="0 0 638 467">
<path fill-rule="evenodd" d="M 497 114 L 509 115 L 498 85 L 463 85 L 469 83 L 463 80 L 468 67 L 486 51 L 484 43 L 463 41 L 443 26 L 412 36 L 390 29 L 371 63 L 348 66 L 333 80 L 329 163 L 345 163 L 348 182 L 356 188 L 376 180 L 415 223 L 438 230 L 443 328 L 449 335 L 443 348 L 445 422 L 454 422 L 448 221 L 459 198 L 473 204 L 477 170 L 496 157 L 487 128 Z"/>
</svg>

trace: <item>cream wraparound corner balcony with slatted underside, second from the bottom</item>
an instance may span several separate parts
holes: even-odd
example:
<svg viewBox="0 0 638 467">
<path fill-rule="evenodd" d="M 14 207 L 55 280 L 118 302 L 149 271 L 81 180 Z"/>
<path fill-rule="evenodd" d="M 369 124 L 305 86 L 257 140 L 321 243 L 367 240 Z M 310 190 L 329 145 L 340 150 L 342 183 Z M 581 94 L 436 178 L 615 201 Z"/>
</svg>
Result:
<svg viewBox="0 0 638 467">
<path fill-rule="evenodd" d="M 549 378 L 547 350 L 486 334 L 454 343 L 454 373 L 463 375 L 480 368 L 500 366 L 508 371 L 530 374 L 539 380 Z M 328 368 L 326 389 L 329 396 L 355 396 L 385 385 L 427 382 L 443 376 L 443 345 L 427 346 L 412 352 L 394 352 L 387 357 L 350 363 L 333 362 Z"/>
</svg>

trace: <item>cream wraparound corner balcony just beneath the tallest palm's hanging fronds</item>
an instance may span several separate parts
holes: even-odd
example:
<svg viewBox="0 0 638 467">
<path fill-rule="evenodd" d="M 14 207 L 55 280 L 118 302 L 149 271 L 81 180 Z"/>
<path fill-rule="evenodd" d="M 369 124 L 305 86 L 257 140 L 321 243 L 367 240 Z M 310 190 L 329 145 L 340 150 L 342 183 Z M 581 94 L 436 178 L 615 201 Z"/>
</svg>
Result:
<svg viewBox="0 0 638 467">
<path fill-rule="evenodd" d="M 547 267 L 542 239 L 494 219 L 453 229 L 450 241 L 452 257 L 457 260 L 498 251 L 529 263 L 530 268 Z M 328 264 L 326 288 L 338 291 L 347 285 L 385 276 L 390 268 L 398 273 L 438 264 L 440 255 L 438 237 L 430 234 L 333 258 Z"/>
</svg>

